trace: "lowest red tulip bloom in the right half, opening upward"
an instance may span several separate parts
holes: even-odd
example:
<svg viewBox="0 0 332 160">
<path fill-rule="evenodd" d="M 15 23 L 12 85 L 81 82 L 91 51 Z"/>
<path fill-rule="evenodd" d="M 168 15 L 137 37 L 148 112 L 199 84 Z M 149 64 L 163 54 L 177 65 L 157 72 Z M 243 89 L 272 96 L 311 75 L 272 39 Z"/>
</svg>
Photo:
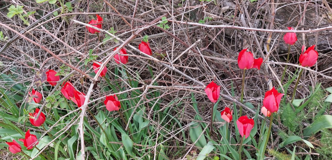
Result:
<svg viewBox="0 0 332 160">
<path fill-rule="evenodd" d="M 240 135 L 245 138 L 248 138 L 250 135 L 250 131 L 254 127 L 254 120 L 252 118 L 248 118 L 246 115 L 241 116 L 237 121 L 237 128 L 239 129 Z"/>
</svg>

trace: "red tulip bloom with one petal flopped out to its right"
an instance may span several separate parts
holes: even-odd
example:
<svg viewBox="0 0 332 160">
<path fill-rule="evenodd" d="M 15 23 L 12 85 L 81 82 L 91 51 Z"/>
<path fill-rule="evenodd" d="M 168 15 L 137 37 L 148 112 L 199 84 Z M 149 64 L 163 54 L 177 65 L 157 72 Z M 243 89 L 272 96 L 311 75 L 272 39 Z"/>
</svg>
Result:
<svg viewBox="0 0 332 160">
<path fill-rule="evenodd" d="M 261 65 L 263 63 L 262 58 L 254 59 L 254 55 L 251 52 L 246 52 L 246 49 L 243 49 L 239 53 L 239 57 L 237 58 L 237 64 L 239 65 L 239 68 L 242 70 L 248 70 L 252 68 L 257 68 L 260 70 Z"/>
</svg>

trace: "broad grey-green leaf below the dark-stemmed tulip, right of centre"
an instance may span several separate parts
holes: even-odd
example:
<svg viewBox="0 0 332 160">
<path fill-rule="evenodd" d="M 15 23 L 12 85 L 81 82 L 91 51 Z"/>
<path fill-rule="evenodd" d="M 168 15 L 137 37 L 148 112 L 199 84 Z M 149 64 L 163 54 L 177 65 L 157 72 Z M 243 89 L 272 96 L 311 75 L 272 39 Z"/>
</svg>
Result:
<svg viewBox="0 0 332 160">
<path fill-rule="evenodd" d="M 200 137 L 200 135 L 201 135 L 201 137 Z M 190 129 L 189 129 L 189 136 L 193 143 L 196 142 L 196 140 L 198 139 L 198 141 L 195 144 L 196 146 L 203 148 L 205 145 L 207 145 L 207 141 L 205 139 L 205 135 L 203 133 L 200 123 L 191 122 Z"/>
</svg>

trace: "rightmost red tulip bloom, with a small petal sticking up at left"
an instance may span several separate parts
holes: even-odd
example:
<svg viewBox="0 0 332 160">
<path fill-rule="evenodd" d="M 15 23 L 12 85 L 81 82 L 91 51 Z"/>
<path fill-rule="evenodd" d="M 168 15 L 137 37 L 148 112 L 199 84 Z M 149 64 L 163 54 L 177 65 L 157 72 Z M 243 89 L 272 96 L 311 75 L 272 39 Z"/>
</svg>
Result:
<svg viewBox="0 0 332 160">
<path fill-rule="evenodd" d="M 304 53 L 300 55 L 300 58 L 298 61 L 300 62 L 300 65 L 303 67 L 312 67 L 316 64 L 318 59 L 318 52 L 314 50 L 315 45 L 309 47 Z M 302 47 L 302 49 L 304 49 Z M 302 50 L 303 52 L 303 50 Z"/>
</svg>

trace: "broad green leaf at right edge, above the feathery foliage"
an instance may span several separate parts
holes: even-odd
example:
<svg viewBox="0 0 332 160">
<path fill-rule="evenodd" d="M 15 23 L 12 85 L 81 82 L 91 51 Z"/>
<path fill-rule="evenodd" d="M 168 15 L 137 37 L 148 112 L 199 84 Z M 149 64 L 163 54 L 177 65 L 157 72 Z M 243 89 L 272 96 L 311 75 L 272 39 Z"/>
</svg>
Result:
<svg viewBox="0 0 332 160">
<path fill-rule="evenodd" d="M 322 129 L 332 128 L 332 115 L 321 115 L 303 129 L 303 136 L 311 136 Z"/>
</svg>

